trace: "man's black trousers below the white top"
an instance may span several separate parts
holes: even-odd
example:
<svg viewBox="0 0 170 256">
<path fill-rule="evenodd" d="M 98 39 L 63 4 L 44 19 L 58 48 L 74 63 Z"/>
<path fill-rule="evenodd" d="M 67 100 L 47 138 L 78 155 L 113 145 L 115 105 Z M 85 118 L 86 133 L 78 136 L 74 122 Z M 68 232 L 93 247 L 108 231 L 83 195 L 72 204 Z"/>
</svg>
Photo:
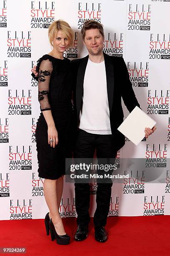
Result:
<svg viewBox="0 0 170 256">
<path fill-rule="evenodd" d="M 80 130 L 74 150 L 74 158 L 92 159 L 96 149 L 98 158 L 115 158 L 117 151 L 114 148 L 112 135 L 98 135 Z M 96 193 L 96 210 L 93 218 L 95 227 L 105 226 L 110 207 L 112 181 L 98 183 Z M 90 222 L 90 185 L 88 183 L 75 183 L 75 208 L 77 224 L 88 225 Z"/>
</svg>

